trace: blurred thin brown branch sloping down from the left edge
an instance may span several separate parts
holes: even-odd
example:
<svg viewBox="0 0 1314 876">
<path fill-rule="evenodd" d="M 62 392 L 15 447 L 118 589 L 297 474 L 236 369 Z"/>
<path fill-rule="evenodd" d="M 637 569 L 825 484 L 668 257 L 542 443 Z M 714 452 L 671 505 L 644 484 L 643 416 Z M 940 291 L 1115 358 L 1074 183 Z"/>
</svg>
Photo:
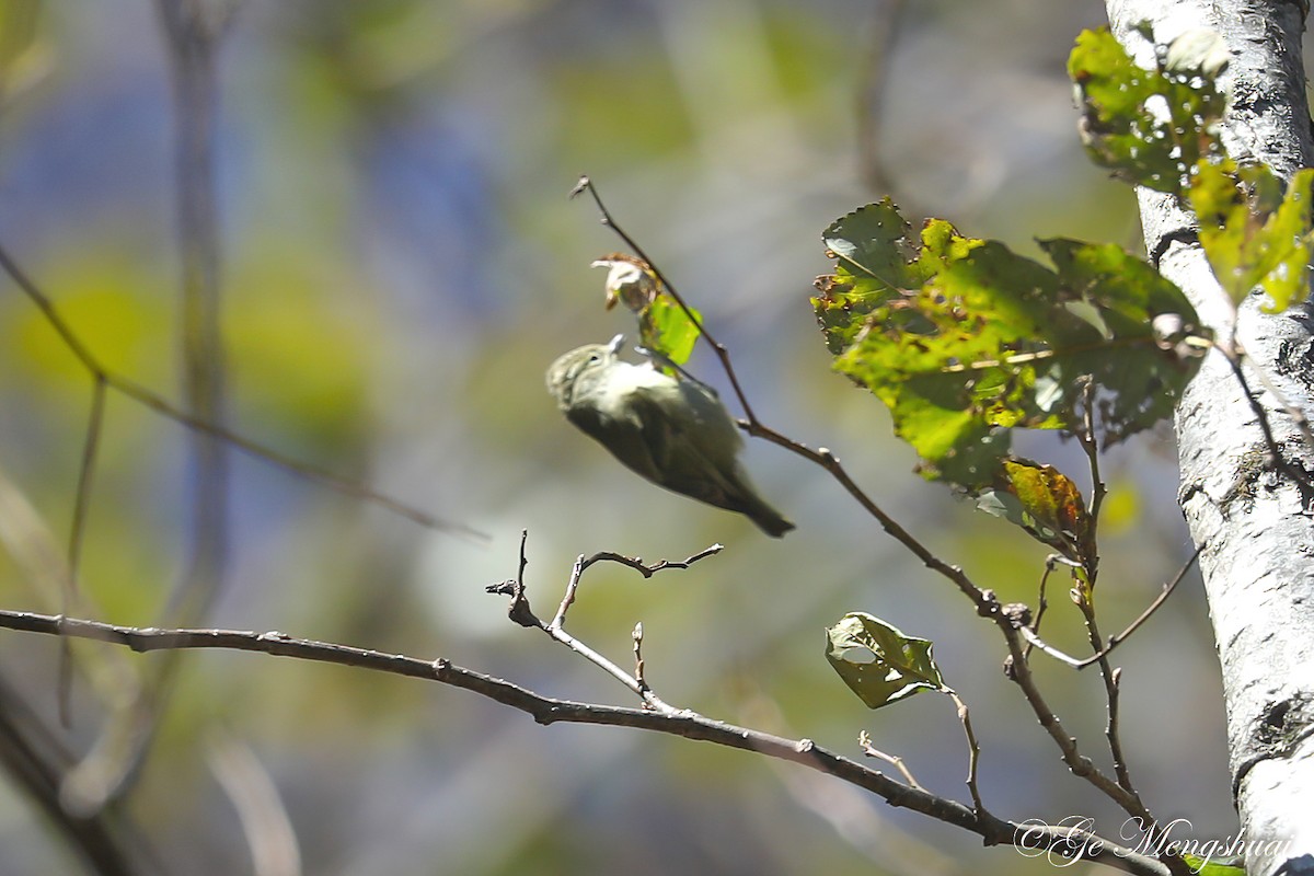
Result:
<svg viewBox="0 0 1314 876">
<path fill-rule="evenodd" d="M 167 402 L 164 397 L 152 393 L 141 383 L 137 383 L 129 380 L 127 377 L 110 372 L 109 369 L 106 369 L 104 365 L 100 364 L 100 360 L 97 360 L 92 355 L 91 348 L 87 347 L 87 344 L 81 340 L 81 338 L 79 338 L 78 334 L 72 330 L 72 327 L 64 320 L 63 315 L 55 307 L 53 299 L 49 296 L 46 296 L 32 281 L 32 278 L 22 271 L 22 268 L 18 267 L 18 264 L 13 260 L 13 257 L 3 246 L 0 246 L 0 269 L 3 269 L 9 276 L 11 280 L 13 280 L 14 285 L 18 286 L 20 292 L 22 292 L 37 307 L 37 310 L 41 311 L 42 317 L 45 317 L 46 319 L 46 323 L 55 331 L 57 335 L 59 335 L 59 339 L 63 341 L 64 347 L 68 348 L 68 352 L 71 352 L 74 357 L 79 361 L 79 364 L 81 364 L 81 366 L 87 369 L 87 373 L 89 373 L 93 380 L 104 381 L 106 387 L 113 389 L 121 395 L 133 399 L 134 402 L 142 405 L 143 407 L 150 408 L 151 411 L 155 411 L 156 414 L 164 416 L 166 419 L 173 420 L 175 423 L 179 423 L 180 426 L 192 429 L 194 432 L 204 432 L 206 435 L 212 435 L 233 445 L 242 453 L 246 453 L 247 456 L 255 460 L 272 465 L 276 469 L 283 469 L 284 471 L 300 477 L 304 481 L 319 483 L 325 487 L 328 487 L 330 490 L 334 490 L 335 493 L 340 493 L 353 499 L 360 499 L 361 502 L 368 502 L 381 508 L 386 508 L 388 511 L 401 517 L 406 517 L 407 520 L 417 523 L 426 529 L 448 532 L 453 535 L 463 535 L 466 537 L 473 537 L 485 541 L 487 540 L 487 535 L 477 529 L 472 529 L 465 524 L 436 517 L 431 514 L 420 511 L 419 508 L 409 506 L 405 502 L 385 495 L 367 483 L 360 483 L 357 481 L 352 481 L 340 477 L 338 474 L 334 474 L 326 469 L 321 469 L 318 466 L 309 465 L 306 462 L 300 462 L 292 458 L 290 456 L 280 453 L 279 450 L 275 450 L 264 444 L 242 437 L 237 432 L 233 432 L 231 429 L 218 426 L 217 423 L 210 423 L 197 416 L 192 416 L 191 414 L 184 412 L 175 405 Z"/>
</svg>

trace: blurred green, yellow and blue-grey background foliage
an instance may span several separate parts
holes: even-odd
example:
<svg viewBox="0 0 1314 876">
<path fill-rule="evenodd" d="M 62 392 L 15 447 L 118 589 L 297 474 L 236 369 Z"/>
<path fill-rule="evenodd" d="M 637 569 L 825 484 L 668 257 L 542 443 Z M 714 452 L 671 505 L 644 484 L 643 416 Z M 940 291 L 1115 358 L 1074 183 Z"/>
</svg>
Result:
<svg viewBox="0 0 1314 876">
<path fill-rule="evenodd" d="M 1135 248 L 1131 192 L 1076 139 L 1064 59 L 1102 4 L 917 0 L 250 0 L 219 54 L 222 285 L 240 433 L 477 528 L 407 520 L 235 456 L 233 565 L 209 623 L 445 657 L 547 695 L 624 703 L 594 667 L 506 620 L 484 586 L 527 579 L 547 612 L 579 553 L 682 558 L 650 580 L 597 567 L 572 629 L 628 662 L 646 632 L 668 701 L 857 756 L 857 734 L 966 799 L 943 697 L 867 712 L 823 626 L 869 611 L 936 641 L 974 709 L 987 804 L 1010 818 L 1122 817 L 1070 779 L 1001 644 L 820 470 L 753 443 L 762 491 L 798 524 L 662 493 L 569 427 L 552 359 L 632 331 L 606 313 L 618 250 L 581 172 L 732 351 L 759 416 L 832 448 L 918 537 L 1004 600 L 1034 603 L 1043 550 L 912 474 L 867 394 L 828 370 L 808 306 L 820 231 L 887 193 L 908 214 L 1035 252 L 1034 236 Z M 879 88 L 871 88 L 879 76 Z M 0 242 L 102 361 L 179 398 L 168 67 L 146 0 L 0 3 Z M 865 164 L 859 134 L 879 164 Z M 91 380 L 0 284 L 0 470 L 67 538 Z M 707 351 L 691 368 L 723 389 Z M 727 394 L 728 397 L 728 394 Z M 110 395 L 81 583 L 100 616 L 155 623 L 181 574 L 187 454 L 176 423 Z M 1072 445 L 1021 452 L 1081 473 Z M 1102 529 L 1105 633 L 1188 552 L 1167 429 L 1120 448 Z M 1079 478 L 1080 479 L 1080 478 Z M 1084 481 L 1083 481 L 1084 482 Z M 53 609 L 0 553 L 0 604 Z M 1066 587 L 1050 634 L 1080 650 Z M 89 657 L 102 651 L 91 649 Z M 54 714 L 57 644 L 0 633 L 4 678 Z M 1151 808 L 1235 833 L 1217 663 L 1189 579 L 1118 653 L 1123 733 Z M 141 666 L 145 661 L 130 655 Z M 1097 676 L 1045 658 L 1059 714 L 1100 763 Z M 76 691 L 71 737 L 100 712 Z M 539 728 L 469 693 L 340 667 L 192 653 L 129 810 L 172 872 L 250 872 L 206 753 L 246 746 L 288 806 L 306 873 L 1024 873 L 1047 869 L 805 771 L 691 742 Z M 0 872 L 76 859 L 0 783 Z"/>
</svg>

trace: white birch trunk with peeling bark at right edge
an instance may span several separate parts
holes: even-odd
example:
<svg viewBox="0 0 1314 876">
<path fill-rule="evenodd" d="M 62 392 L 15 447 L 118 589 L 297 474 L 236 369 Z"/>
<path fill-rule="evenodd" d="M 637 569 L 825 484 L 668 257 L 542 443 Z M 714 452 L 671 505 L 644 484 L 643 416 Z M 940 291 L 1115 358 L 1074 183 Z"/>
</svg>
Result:
<svg viewBox="0 0 1314 876">
<path fill-rule="evenodd" d="M 1154 25 L 1167 43 L 1190 28 L 1218 30 L 1233 54 L 1225 142 L 1238 160 L 1261 160 L 1289 179 L 1314 156 L 1300 41 L 1307 0 L 1108 0 L 1120 41 L 1148 66 L 1131 32 Z M 1176 201 L 1141 190 L 1146 247 L 1201 319 L 1226 336 L 1231 307 Z M 1314 317 L 1260 311 L 1248 299 L 1235 336 L 1251 386 L 1282 456 L 1314 471 L 1292 419 L 1263 378 L 1307 412 L 1314 386 Z M 1269 465 L 1257 419 L 1222 356 L 1212 353 L 1177 410 L 1181 507 L 1204 550 L 1227 705 L 1233 791 L 1247 872 L 1314 873 L 1314 490 Z M 1190 716 L 1179 716 L 1189 721 Z"/>
</svg>

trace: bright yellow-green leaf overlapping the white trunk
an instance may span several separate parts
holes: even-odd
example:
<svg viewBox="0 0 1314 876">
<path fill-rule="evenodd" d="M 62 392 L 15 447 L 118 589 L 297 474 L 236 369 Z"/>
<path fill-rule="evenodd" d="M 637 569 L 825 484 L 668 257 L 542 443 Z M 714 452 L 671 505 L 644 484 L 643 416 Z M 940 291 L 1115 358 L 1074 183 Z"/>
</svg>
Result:
<svg viewBox="0 0 1314 876">
<path fill-rule="evenodd" d="M 1226 159 L 1201 162 L 1189 190 L 1200 243 L 1218 282 L 1235 302 L 1261 288 L 1269 313 L 1305 301 L 1314 255 L 1314 169 L 1298 171 L 1285 193 L 1282 188 L 1267 167 L 1238 167 Z"/>
</svg>

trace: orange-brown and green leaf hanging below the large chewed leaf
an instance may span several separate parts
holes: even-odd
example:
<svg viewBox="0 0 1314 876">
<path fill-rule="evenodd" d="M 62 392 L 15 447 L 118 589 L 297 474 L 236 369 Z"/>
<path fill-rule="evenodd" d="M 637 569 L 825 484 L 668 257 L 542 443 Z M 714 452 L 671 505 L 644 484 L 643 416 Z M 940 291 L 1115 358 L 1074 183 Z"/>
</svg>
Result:
<svg viewBox="0 0 1314 876">
<path fill-rule="evenodd" d="M 1005 460 L 976 507 L 1021 527 L 1068 559 L 1093 571 L 1096 546 L 1081 493 L 1062 471 L 1030 460 Z"/>
</svg>

